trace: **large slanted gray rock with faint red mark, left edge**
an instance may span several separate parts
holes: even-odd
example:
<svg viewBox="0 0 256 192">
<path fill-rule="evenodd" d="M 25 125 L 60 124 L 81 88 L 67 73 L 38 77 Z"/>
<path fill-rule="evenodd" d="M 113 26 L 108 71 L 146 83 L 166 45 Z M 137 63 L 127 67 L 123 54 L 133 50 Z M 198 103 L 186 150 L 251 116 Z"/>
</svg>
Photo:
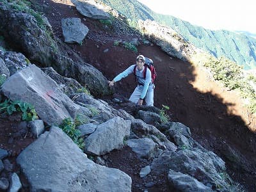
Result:
<svg viewBox="0 0 256 192">
<path fill-rule="evenodd" d="M 74 118 L 79 111 L 79 106 L 63 94 L 56 82 L 36 65 L 30 65 L 9 77 L 2 91 L 12 100 L 33 104 L 38 116 L 49 125 L 59 125 L 64 118 Z"/>
</svg>

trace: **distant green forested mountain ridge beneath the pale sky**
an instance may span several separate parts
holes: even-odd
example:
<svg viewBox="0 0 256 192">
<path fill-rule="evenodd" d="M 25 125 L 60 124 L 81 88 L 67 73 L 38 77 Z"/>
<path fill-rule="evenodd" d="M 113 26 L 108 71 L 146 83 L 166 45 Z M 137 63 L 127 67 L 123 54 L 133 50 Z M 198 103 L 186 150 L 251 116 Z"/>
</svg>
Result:
<svg viewBox="0 0 256 192">
<path fill-rule="evenodd" d="M 245 33 L 232 31 L 211 31 L 200 26 L 193 26 L 189 22 L 170 15 L 161 15 L 152 12 L 147 6 L 134 0 L 102 0 L 103 3 L 112 6 L 127 18 L 131 19 L 131 25 L 136 26 L 138 19 L 156 20 L 169 26 L 200 49 L 210 52 L 216 58 L 225 56 L 229 60 L 236 61 L 245 70 L 256 68 L 256 40 Z M 180 8 L 182 11 L 182 8 Z"/>
</svg>

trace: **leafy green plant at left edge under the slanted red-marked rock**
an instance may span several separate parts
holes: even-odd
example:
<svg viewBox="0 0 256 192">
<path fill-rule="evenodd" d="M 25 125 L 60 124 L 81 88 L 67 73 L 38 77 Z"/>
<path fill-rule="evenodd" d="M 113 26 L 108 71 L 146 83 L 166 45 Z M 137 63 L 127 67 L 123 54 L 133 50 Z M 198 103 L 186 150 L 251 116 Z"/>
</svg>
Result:
<svg viewBox="0 0 256 192">
<path fill-rule="evenodd" d="M 20 100 L 10 100 L 6 99 L 4 102 L 0 103 L 0 114 L 12 115 L 14 112 L 22 112 L 22 120 L 31 121 L 38 118 L 33 105 L 22 102 Z"/>
</svg>

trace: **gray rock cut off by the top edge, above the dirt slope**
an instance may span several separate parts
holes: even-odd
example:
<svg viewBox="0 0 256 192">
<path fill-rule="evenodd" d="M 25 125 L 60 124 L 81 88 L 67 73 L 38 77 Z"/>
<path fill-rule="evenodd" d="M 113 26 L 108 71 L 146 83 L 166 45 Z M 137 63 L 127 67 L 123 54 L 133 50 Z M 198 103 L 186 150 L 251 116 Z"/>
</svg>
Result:
<svg viewBox="0 0 256 192">
<path fill-rule="evenodd" d="M 79 13 L 92 19 L 109 19 L 108 13 L 104 12 L 101 4 L 93 0 L 71 0 Z"/>
</svg>

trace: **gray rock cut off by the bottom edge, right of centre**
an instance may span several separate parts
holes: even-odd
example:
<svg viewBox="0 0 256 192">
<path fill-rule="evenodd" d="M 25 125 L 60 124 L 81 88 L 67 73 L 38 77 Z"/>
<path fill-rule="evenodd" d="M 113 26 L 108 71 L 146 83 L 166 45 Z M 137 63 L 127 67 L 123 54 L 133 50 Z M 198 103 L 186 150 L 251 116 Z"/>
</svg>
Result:
<svg viewBox="0 0 256 192">
<path fill-rule="evenodd" d="M 168 173 L 168 186 L 171 191 L 184 191 L 184 192 L 212 192 L 212 189 L 199 182 L 197 179 L 170 170 Z"/>
</svg>

